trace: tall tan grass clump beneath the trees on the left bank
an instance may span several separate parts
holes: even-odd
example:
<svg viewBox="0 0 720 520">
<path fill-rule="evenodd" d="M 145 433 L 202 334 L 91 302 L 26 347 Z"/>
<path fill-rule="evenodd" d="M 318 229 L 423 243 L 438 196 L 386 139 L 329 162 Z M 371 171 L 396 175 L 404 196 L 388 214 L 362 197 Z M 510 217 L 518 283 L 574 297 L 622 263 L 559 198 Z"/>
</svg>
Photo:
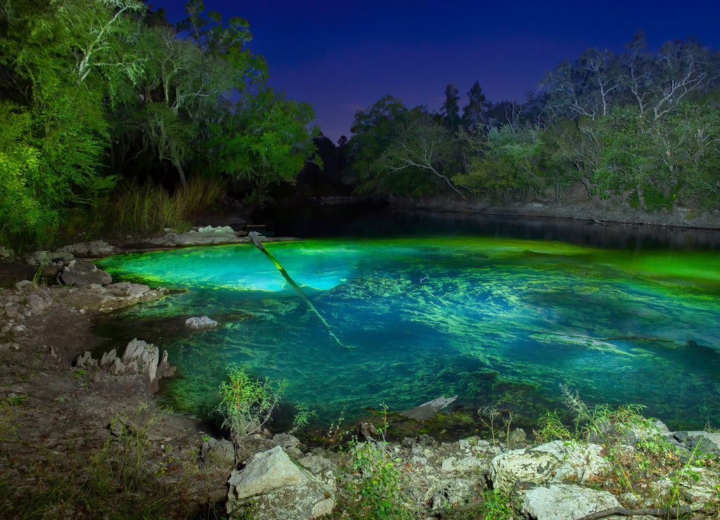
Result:
<svg viewBox="0 0 720 520">
<path fill-rule="evenodd" d="M 119 186 L 109 203 L 108 213 L 118 231 L 156 232 L 165 228 L 189 229 L 225 189 L 217 178 L 192 178 L 186 188 L 172 194 L 150 181 L 133 180 Z"/>
</svg>

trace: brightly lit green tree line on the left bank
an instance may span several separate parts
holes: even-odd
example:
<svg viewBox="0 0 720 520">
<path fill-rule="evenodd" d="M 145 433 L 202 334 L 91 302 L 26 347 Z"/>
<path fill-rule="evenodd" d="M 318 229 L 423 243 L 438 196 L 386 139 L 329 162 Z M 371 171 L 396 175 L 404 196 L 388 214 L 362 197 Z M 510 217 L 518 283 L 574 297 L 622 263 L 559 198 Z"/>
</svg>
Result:
<svg viewBox="0 0 720 520">
<path fill-rule="evenodd" d="M 267 85 L 250 40 L 201 0 L 177 24 L 139 0 L 4 0 L 0 238 L 51 240 L 129 178 L 222 178 L 255 204 L 292 181 L 315 152 L 312 106 Z"/>
</svg>

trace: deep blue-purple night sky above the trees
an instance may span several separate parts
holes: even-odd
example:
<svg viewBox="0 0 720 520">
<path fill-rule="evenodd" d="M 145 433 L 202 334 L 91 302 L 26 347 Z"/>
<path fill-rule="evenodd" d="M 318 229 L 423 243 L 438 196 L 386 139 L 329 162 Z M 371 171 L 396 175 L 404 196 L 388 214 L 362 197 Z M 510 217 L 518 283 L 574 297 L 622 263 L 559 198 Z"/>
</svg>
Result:
<svg viewBox="0 0 720 520">
<path fill-rule="evenodd" d="M 151 0 L 168 19 L 184 1 Z M 720 48 L 720 0 L 400 1 L 204 0 L 223 19 L 250 22 L 251 50 L 269 83 L 315 107 L 333 141 L 355 112 L 391 94 L 439 110 L 455 83 L 461 107 L 480 81 L 490 101 L 524 101 L 546 70 L 588 47 L 621 53 L 642 29 L 649 47 L 693 36 Z"/>
</svg>

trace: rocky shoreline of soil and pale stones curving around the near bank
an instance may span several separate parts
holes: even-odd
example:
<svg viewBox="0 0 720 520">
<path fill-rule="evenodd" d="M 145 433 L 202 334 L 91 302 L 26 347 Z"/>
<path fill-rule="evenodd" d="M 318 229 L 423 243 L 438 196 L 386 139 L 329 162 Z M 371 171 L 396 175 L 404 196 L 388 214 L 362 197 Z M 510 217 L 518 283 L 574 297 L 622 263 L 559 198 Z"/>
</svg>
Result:
<svg viewBox="0 0 720 520">
<path fill-rule="evenodd" d="M 228 229 L 174 234 L 150 240 L 148 247 L 249 242 Z M 337 449 L 338 431 L 325 447 L 305 446 L 289 434 L 256 434 L 237 466 L 227 439 L 156 408 L 143 362 L 135 361 L 139 370 L 126 370 L 132 360 L 117 355 L 105 363 L 85 356 L 78 363 L 78 355 L 102 341 L 91 332 L 92 316 L 167 294 L 112 283 L 107 273 L 76 258 L 117 250 L 94 242 L 40 252 L 30 258 L 37 273 L 65 285 L 46 286 L 37 277 L 0 289 L 0 507 L 11 517 L 145 511 L 161 518 L 356 518 L 368 514 L 371 491 L 389 493 L 388 503 L 418 519 L 473 518 L 468 515 L 479 516 L 483 504 L 500 496 L 514 517 L 538 520 L 618 518 L 592 516 L 603 511 L 666 518 L 672 507 L 701 519 L 719 511 L 720 434 L 669 432 L 640 417 L 632 424 L 600 425 L 597 431 L 604 433 L 593 442 L 533 444 L 509 426 L 505 432 L 486 429 L 487 439 L 437 442 L 419 435 L 384 442 L 387 416 L 378 416 L 377 424 L 343 432 L 351 441 L 343 450 Z M 155 369 L 165 362 L 161 372 L 169 375 L 168 360 L 153 359 Z M 128 446 L 135 469 L 123 480 L 118 450 Z M 392 489 L 382 487 L 376 470 L 392 476 Z M 102 471 L 112 485 L 89 486 L 102 480 Z M 158 491 L 161 498 L 153 494 Z"/>
</svg>

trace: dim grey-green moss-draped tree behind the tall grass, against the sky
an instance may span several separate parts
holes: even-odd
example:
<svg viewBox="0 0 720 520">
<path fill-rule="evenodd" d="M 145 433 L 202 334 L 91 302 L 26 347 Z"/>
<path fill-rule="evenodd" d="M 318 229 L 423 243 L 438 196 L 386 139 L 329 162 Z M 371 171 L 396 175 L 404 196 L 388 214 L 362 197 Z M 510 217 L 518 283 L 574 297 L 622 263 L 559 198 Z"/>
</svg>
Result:
<svg viewBox="0 0 720 520">
<path fill-rule="evenodd" d="M 202 1 L 190 1 L 176 28 L 151 18 L 138 42 L 143 75 L 134 83 L 135 96 L 117 114 L 125 122 L 119 155 L 167 160 L 183 187 L 186 165 L 202 162 L 212 124 L 238 111 L 267 76 L 264 60 L 245 48 L 251 39 L 247 22 L 223 21 L 219 13 L 203 10 Z M 189 37 L 179 39 L 178 31 Z"/>
</svg>

